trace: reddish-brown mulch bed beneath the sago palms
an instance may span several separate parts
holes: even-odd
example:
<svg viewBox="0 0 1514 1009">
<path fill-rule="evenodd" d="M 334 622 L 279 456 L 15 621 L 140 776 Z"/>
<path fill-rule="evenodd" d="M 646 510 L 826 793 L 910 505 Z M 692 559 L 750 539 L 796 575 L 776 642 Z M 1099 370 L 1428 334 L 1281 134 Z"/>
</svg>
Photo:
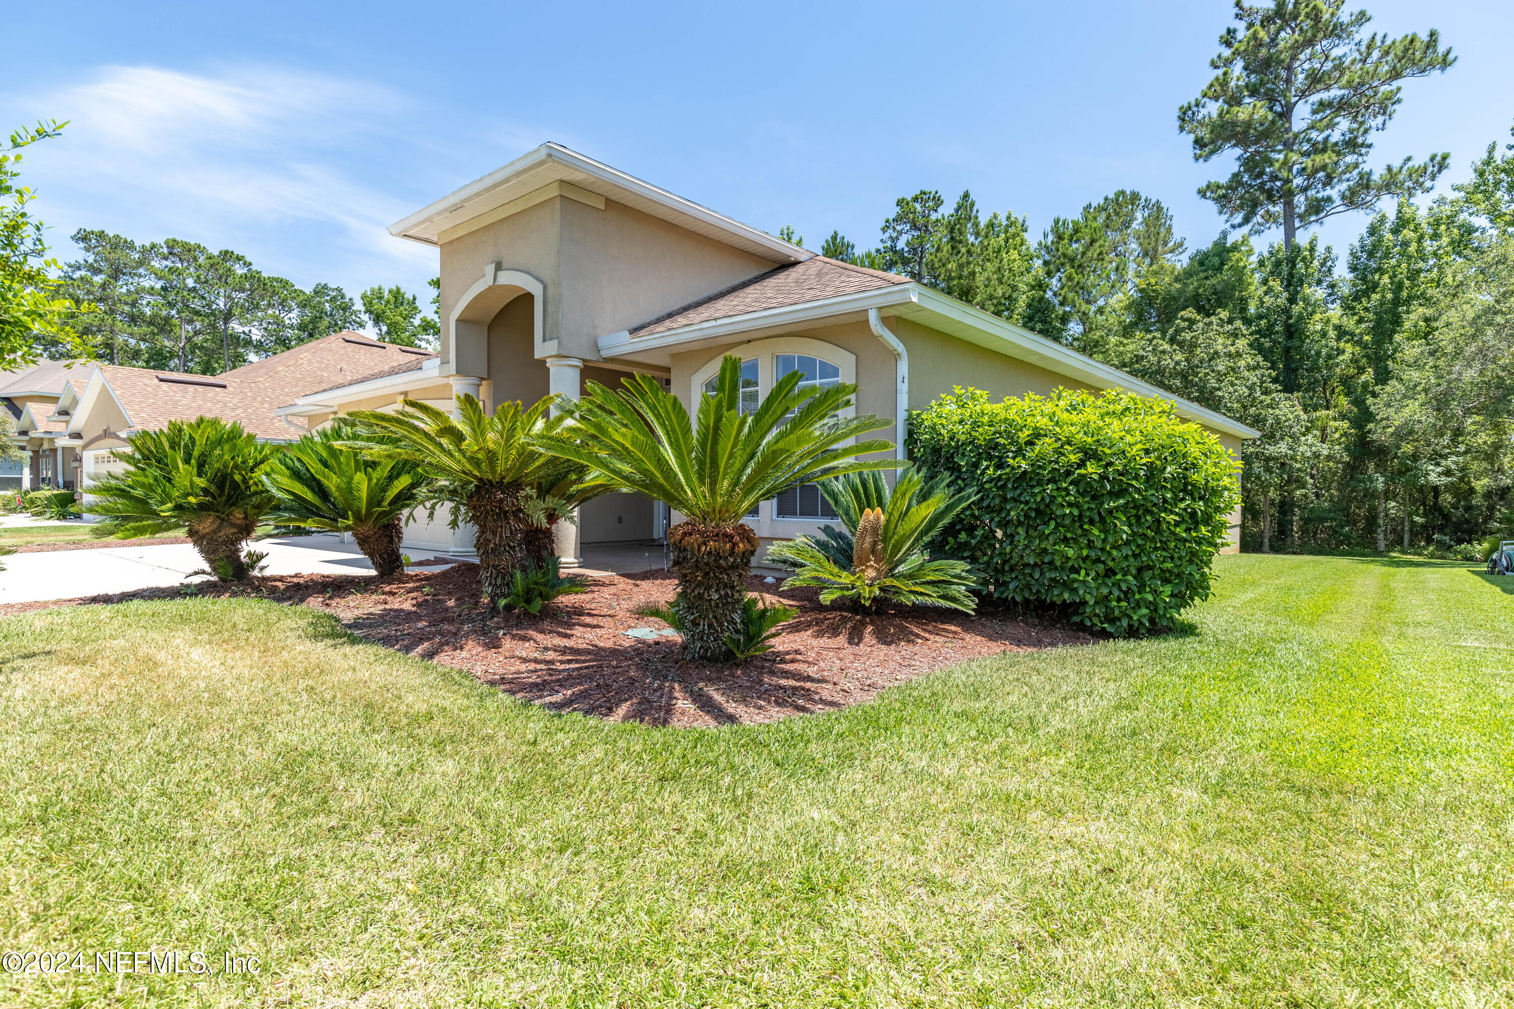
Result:
<svg viewBox="0 0 1514 1009">
<path fill-rule="evenodd" d="M 662 629 L 636 610 L 666 602 L 669 572 L 606 575 L 537 617 L 486 619 L 478 566 L 386 579 L 354 575 L 262 576 L 244 585 L 201 582 L 201 596 L 263 598 L 336 616 L 348 631 L 386 647 L 466 670 L 484 684 L 550 708 L 613 722 L 713 726 L 777 722 L 834 711 L 887 687 L 969 658 L 1089 644 L 1083 631 L 995 610 L 975 616 L 902 608 L 863 616 L 822 607 L 813 588 L 778 591 L 760 575 L 751 591 L 799 610 L 777 647 L 740 666 L 683 661 L 678 638 L 639 640 Z M 0 616 L 59 605 L 179 598 L 179 587 L 36 604 L 0 605 Z"/>
</svg>

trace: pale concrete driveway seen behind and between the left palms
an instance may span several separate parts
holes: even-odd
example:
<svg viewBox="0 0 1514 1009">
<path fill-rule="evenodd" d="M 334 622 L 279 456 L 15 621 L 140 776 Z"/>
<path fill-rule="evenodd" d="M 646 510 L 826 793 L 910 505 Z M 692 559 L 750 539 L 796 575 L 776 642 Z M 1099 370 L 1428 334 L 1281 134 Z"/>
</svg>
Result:
<svg viewBox="0 0 1514 1009">
<path fill-rule="evenodd" d="M 259 540 L 250 543 L 248 549 L 268 554 L 265 575 L 374 573 L 362 551 L 354 543 L 339 542 L 335 534 Z M 416 561 L 435 557 L 428 551 L 406 552 Z M 0 572 L 0 604 L 177 585 L 189 572 L 204 567 L 204 561 L 188 543 L 12 554 L 3 563 L 6 570 Z"/>
</svg>

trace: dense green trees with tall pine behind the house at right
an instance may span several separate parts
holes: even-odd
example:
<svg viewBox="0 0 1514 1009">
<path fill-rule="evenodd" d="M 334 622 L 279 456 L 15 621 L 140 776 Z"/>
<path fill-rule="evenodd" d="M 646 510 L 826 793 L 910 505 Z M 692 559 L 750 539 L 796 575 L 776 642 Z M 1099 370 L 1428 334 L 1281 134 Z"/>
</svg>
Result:
<svg viewBox="0 0 1514 1009">
<path fill-rule="evenodd" d="M 1341 0 L 1235 5 L 1219 74 L 1178 110 L 1196 160 L 1235 156 L 1199 195 L 1226 230 L 1196 250 L 1160 200 L 1122 189 L 1039 241 L 970 192 L 896 201 L 886 269 L 1261 431 L 1243 448 L 1252 549 L 1423 548 L 1514 534 L 1514 156 L 1491 144 L 1452 194 L 1444 153 L 1373 171 L 1402 83 L 1449 70 L 1431 30 L 1387 38 Z M 1514 144 L 1508 145 L 1514 150 Z M 1387 209 L 1379 210 L 1379 206 Z M 1370 212 L 1344 263 L 1308 230 Z M 1279 230 L 1267 245 L 1254 239 Z M 793 228 L 786 238 L 802 244 Z"/>
</svg>

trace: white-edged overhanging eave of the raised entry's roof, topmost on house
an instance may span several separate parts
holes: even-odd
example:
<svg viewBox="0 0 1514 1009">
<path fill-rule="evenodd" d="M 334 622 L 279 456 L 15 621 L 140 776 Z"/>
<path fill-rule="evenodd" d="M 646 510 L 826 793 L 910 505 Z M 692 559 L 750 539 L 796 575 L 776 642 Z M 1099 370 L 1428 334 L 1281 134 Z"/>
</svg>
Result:
<svg viewBox="0 0 1514 1009">
<path fill-rule="evenodd" d="M 715 239 L 774 263 L 798 263 L 815 253 L 716 213 L 692 200 L 584 157 L 557 144 L 544 144 L 483 179 L 392 224 L 389 233 L 436 245 L 442 231 L 489 213 L 554 182 L 566 182 L 633 210 Z"/>
</svg>

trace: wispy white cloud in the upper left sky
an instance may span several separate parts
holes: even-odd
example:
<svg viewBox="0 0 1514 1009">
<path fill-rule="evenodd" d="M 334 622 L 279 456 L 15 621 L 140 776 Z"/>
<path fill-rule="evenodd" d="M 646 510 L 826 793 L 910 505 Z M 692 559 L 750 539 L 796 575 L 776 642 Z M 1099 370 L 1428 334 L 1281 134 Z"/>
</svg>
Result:
<svg viewBox="0 0 1514 1009">
<path fill-rule="evenodd" d="M 109 67 L 5 106 L 23 120 L 70 121 L 26 159 L 55 244 L 76 227 L 186 238 L 350 290 L 415 287 L 436 268 L 435 251 L 385 230 L 415 209 L 410 198 L 363 179 L 371 159 L 424 154 L 395 133 L 413 103 L 392 89 L 277 67 L 220 76 Z"/>
</svg>

